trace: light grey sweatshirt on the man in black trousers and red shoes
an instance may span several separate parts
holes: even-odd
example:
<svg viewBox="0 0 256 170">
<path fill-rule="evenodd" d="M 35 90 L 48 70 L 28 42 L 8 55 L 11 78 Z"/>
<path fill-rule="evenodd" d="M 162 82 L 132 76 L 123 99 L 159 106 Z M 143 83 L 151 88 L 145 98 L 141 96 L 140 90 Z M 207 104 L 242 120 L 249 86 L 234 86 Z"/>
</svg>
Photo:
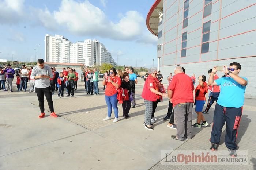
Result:
<svg viewBox="0 0 256 170">
<path fill-rule="evenodd" d="M 31 79 L 35 79 L 35 76 L 39 76 L 39 75 L 46 75 L 46 76 L 50 76 L 50 78 L 53 78 L 52 70 L 50 69 L 50 67 L 48 67 L 46 65 L 44 66 L 43 69 L 41 69 L 39 66 L 35 66 L 32 70 L 30 77 L 31 77 Z M 35 79 L 35 87 L 36 88 L 46 88 L 49 86 L 51 86 L 49 78 Z"/>
</svg>

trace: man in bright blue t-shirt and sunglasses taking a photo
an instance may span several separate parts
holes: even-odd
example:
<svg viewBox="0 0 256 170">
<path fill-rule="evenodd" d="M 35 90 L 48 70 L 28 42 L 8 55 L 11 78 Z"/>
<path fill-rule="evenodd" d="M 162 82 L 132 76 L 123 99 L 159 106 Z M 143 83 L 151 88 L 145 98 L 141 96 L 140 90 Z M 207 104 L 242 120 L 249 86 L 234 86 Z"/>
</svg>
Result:
<svg viewBox="0 0 256 170">
<path fill-rule="evenodd" d="M 223 72 L 227 77 L 214 80 L 216 67 L 212 69 L 208 84 L 221 86 L 217 104 L 214 110 L 213 126 L 211 131 L 211 150 L 217 150 L 221 130 L 226 123 L 225 144 L 229 149 L 229 155 L 236 157 L 236 139 L 238 127 L 244 105 L 244 93 L 248 84 L 246 77 L 239 77 L 241 65 L 237 62 L 230 63 L 229 68 L 223 66 Z"/>
</svg>

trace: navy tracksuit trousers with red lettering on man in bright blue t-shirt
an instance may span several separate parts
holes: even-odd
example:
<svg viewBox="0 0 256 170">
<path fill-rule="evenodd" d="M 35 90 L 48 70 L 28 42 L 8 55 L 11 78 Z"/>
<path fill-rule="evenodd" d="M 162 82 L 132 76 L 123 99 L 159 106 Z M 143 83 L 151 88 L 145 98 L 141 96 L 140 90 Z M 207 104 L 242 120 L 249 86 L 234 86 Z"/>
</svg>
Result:
<svg viewBox="0 0 256 170">
<path fill-rule="evenodd" d="M 237 149 L 236 139 L 242 116 L 242 108 L 243 107 L 223 107 L 219 104 L 215 105 L 211 143 L 219 143 L 222 127 L 226 123 L 225 144 L 229 149 Z"/>
</svg>

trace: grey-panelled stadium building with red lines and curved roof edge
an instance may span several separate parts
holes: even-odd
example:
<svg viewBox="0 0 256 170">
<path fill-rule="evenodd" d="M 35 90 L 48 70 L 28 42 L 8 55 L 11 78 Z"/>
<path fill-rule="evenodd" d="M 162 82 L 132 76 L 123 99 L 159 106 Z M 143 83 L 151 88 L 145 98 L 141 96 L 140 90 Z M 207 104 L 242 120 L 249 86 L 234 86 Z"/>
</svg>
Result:
<svg viewBox="0 0 256 170">
<path fill-rule="evenodd" d="M 176 65 L 189 76 L 208 77 L 213 66 L 238 62 L 240 76 L 248 78 L 245 96 L 256 97 L 255 11 L 255 0 L 156 0 L 146 24 L 158 37 L 164 82 Z"/>
</svg>

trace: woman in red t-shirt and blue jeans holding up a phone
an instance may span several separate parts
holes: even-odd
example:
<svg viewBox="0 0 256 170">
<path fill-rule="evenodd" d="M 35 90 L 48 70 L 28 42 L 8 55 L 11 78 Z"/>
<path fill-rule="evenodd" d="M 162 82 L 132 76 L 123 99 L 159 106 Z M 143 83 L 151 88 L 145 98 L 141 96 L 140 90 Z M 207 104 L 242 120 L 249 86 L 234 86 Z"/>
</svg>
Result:
<svg viewBox="0 0 256 170">
<path fill-rule="evenodd" d="M 111 68 L 109 70 L 109 76 L 104 76 L 102 85 L 107 85 L 105 90 L 105 100 L 106 104 L 108 105 L 108 116 L 103 120 L 105 121 L 111 119 L 110 117 L 113 108 L 115 113 L 115 118 L 113 122 L 116 123 L 118 121 L 117 94 L 118 88 L 121 86 L 121 78 L 117 76 L 115 68 Z"/>
</svg>

